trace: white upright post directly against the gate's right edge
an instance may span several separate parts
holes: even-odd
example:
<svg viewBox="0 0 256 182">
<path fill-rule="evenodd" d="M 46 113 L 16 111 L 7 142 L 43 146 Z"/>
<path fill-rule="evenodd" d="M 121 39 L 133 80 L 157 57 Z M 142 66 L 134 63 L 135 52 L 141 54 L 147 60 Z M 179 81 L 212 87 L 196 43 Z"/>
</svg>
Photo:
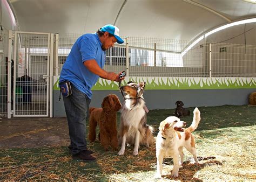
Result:
<svg viewBox="0 0 256 182">
<path fill-rule="evenodd" d="M 50 36 L 50 117 L 52 117 L 53 111 L 53 33 Z"/>
</svg>

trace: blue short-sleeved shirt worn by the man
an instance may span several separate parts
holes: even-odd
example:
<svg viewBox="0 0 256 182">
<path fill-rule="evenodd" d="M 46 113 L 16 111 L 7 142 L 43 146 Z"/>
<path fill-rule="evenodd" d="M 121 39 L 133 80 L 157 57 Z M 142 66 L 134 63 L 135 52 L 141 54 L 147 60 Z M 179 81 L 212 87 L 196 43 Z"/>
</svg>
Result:
<svg viewBox="0 0 256 182">
<path fill-rule="evenodd" d="M 102 50 L 102 43 L 97 33 L 84 34 L 77 39 L 62 67 L 59 82 L 70 81 L 91 99 L 91 88 L 98 81 L 99 76 L 90 72 L 83 62 L 92 59 L 97 61 L 100 68 L 103 68 L 105 51 Z"/>
</svg>

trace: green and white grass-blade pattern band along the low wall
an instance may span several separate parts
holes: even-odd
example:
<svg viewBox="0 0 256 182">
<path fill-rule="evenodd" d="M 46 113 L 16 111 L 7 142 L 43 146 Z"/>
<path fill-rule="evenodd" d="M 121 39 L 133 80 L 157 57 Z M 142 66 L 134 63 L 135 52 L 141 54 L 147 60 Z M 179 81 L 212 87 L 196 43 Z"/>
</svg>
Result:
<svg viewBox="0 0 256 182">
<path fill-rule="evenodd" d="M 58 76 L 53 77 L 55 90 L 59 89 L 58 78 Z M 122 85 L 128 81 L 137 83 L 146 81 L 147 90 L 256 88 L 256 78 L 129 77 L 125 78 Z M 100 78 L 92 90 L 118 90 L 118 83 Z"/>
</svg>

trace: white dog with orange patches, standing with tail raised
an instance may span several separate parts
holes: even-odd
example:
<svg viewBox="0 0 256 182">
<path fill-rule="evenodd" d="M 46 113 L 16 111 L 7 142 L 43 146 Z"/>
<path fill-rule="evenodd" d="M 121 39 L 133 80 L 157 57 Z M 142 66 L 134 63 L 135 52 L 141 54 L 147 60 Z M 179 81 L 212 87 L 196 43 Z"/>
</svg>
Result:
<svg viewBox="0 0 256 182">
<path fill-rule="evenodd" d="M 191 126 L 186 129 L 183 128 L 186 126 L 186 122 L 180 121 L 180 119 L 175 116 L 167 117 L 160 123 L 156 141 L 156 178 L 161 178 L 163 170 L 163 159 L 166 156 L 172 156 L 173 158 L 173 170 L 171 176 L 178 177 L 179 165 L 183 164 L 183 147 L 192 153 L 196 164 L 198 164 L 194 137 L 191 132 L 197 129 L 201 118 L 198 108 L 195 108 L 193 113 L 193 122 Z"/>
</svg>

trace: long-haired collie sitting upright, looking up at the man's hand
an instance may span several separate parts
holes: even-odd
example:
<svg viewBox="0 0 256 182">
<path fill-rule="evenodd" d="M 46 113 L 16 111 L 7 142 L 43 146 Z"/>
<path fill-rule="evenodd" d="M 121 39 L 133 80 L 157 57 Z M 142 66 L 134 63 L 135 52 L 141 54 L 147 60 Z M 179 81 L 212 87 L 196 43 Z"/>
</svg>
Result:
<svg viewBox="0 0 256 182">
<path fill-rule="evenodd" d="M 118 155 L 123 155 L 126 143 L 134 145 L 133 155 L 139 154 L 139 145 L 149 146 L 154 143 L 153 128 L 147 125 L 147 108 L 143 98 L 146 82 L 128 82 L 126 86 L 120 87 L 124 92 L 124 103 L 121 109 L 121 123 L 119 142 L 122 148 Z"/>
</svg>

